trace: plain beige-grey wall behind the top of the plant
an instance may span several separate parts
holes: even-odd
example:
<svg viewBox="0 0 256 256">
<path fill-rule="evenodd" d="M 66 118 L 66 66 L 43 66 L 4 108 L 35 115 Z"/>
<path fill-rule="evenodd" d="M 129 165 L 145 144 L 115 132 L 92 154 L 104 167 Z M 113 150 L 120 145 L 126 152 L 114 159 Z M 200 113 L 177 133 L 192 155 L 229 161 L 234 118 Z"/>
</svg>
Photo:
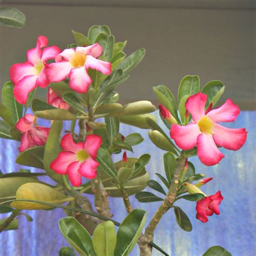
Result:
<svg viewBox="0 0 256 256">
<path fill-rule="evenodd" d="M 26 15 L 23 30 L 0 28 L 0 80 L 9 67 L 25 60 L 38 35 L 64 48 L 73 43 L 71 29 L 86 32 L 107 24 L 116 41 L 129 42 L 126 53 L 146 48 L 146 57 L 118 91 L 124 103 L 148 99 L 152 86 L 164 84 L 177 93 L 180 79 L 199 75 L 201 84 L 219 79 L 242 109 L 255 109 L 255 11 L 86 6 L 12 5 Z M 42 91 L 38 97 L 43 98 Z"/>
</svg>

